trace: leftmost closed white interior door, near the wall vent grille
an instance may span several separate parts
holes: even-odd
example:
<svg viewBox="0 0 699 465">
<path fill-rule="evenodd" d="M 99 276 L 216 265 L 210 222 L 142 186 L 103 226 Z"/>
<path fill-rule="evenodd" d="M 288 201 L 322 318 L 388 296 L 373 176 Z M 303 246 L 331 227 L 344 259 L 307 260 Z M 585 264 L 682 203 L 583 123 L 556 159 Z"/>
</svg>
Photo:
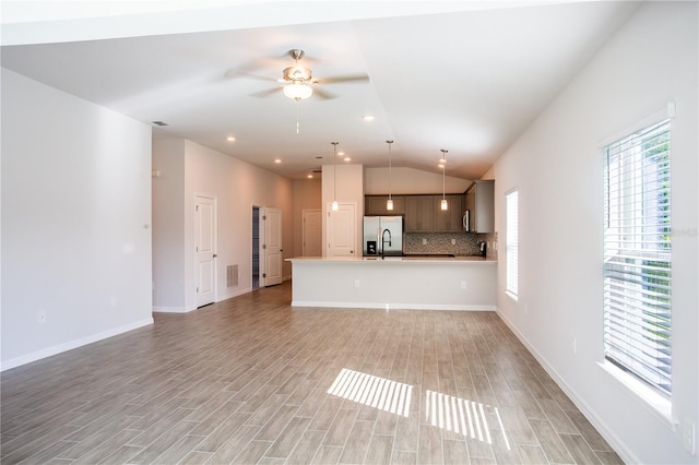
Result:
<svg viewBox="0 0 699 465">
<path fill-rule="evenodd" d="M 213 303 L 216 297 L 216 200 L 194 198 L 194 247 L 197 307 Z"/>
</svg>

